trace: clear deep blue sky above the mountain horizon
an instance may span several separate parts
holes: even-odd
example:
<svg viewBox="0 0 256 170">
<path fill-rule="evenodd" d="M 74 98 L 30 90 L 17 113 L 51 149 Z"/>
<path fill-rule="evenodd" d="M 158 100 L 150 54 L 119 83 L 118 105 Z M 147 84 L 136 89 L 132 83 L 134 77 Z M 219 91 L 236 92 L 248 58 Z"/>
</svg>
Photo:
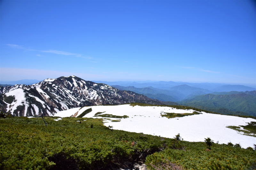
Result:
<svg viewBox="0 0 256 170">
<path fill-rule="evenodd" d="M 255 83 L 246 0 L 0 2 L 1 81 Z"/>
</svg>

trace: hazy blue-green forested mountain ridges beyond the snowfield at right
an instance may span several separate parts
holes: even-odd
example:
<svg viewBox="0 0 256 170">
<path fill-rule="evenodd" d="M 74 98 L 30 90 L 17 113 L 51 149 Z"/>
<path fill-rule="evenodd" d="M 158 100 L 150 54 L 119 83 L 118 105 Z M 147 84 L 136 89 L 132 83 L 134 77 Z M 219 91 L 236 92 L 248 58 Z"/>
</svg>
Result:
<svg viewBox="0 0 256 170">
<path fill-rule="evenodd" d="M 179 85 L 164 89 L 153 87 L 136 88 L 134 86 L 112 85 L 119 90 L 130 90 L 160 101 L 173 101 L 180 105 L 201 108 L 223 114 L 256 116 L 256 91 L 212 92 L 207 89 Z M 251 89 L 240 85 L 220 86 L 220 89 Z M 253 88 L 252 88 L 253 89 Z"/>
</svg>

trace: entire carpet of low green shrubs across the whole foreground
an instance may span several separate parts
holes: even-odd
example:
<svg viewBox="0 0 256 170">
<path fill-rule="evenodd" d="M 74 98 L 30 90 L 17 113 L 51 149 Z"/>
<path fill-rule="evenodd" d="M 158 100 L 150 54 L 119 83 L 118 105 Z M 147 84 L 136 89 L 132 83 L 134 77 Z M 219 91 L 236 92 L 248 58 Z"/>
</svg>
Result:
<svg viewBox="0 0 256 170">
<path fill-rule="evenodd" d="M 0 169 L 119 169 L 145 162 L 148 168 L 250 169 L 255 150 L 113 130 L 103 119 L 0 118 Z M 207 136 L 207 134 L 206 134 Z M 163 166 L 164 167 L 164 166 Z M 253 168 L 251 168 L 253 169 Z"/>
</svg>

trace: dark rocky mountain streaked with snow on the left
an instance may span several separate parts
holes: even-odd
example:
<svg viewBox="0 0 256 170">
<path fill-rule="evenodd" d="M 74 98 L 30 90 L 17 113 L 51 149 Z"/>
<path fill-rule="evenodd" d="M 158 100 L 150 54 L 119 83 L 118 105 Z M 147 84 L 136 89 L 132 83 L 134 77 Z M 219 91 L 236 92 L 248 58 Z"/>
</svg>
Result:
<svg viewBox="0 0 256 170">
<path fill-rule="evenodd" d="M 55 113 L 74 107 L 100 104 L 162 104 L 146 96 L 118 90 L 107 84 L 85 81 L 76 76 L 45 79 L 32 85 L 0 86 L 0 110 L 15 116 Z"/>
</svg>

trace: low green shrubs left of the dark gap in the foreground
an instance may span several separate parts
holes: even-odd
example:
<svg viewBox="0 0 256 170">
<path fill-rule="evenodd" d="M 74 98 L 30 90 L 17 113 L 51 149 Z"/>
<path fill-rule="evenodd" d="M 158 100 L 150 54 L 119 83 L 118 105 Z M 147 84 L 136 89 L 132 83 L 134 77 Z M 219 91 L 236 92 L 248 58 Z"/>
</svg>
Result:
<svg viewBox="0 0 256 170">
<path fill-rule="evenodd" d="M 118 169 L 162 148 L 160 137 L 111 131 L 102 119 L 53 119 L 0 118 L 0 169 Z"/>
</svg>

